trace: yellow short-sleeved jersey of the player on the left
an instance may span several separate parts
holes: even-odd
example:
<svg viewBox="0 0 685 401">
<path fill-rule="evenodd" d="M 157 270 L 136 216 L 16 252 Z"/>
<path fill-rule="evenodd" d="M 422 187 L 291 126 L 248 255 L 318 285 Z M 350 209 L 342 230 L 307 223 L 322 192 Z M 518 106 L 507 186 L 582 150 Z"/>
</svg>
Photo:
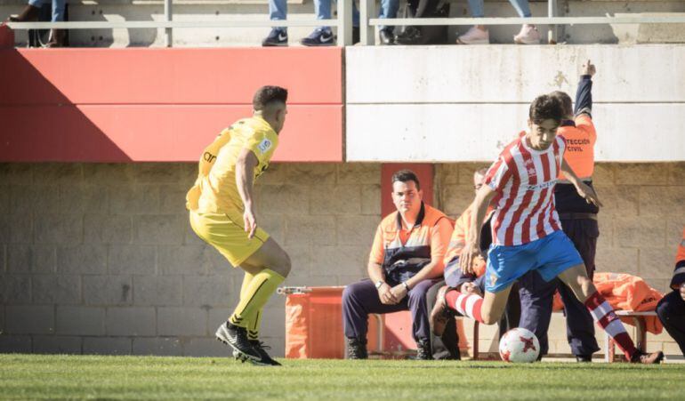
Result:
<svg viewBox="0 0 685 401">
<path fill-rule="evenodd" d="M 244 210 L 236 183 L 236 163 L 246 148 L 257 156 L 254 180 L 269 167 L 278 134 L 262 117 L 238 120 L 219 134 L 200 158 L 199 175 L 186 196 L 186 207 L 198 213 Z"/>
</svg>

